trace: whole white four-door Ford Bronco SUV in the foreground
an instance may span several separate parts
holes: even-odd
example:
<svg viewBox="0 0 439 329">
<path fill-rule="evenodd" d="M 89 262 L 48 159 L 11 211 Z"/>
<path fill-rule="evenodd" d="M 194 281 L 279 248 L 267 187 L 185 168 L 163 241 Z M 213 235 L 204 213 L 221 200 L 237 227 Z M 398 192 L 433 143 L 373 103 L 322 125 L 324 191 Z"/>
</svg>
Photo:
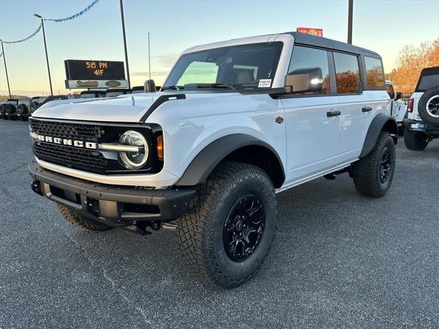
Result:
<svg viewBox="0 0 439 329">
<path fill-rule="evenodd" d="M 388 191 L 389 104 L 373 51 L 296 32 L 197 46 L 161 92 L 38 108 L 32 189 L 86 230 L 176 229 L 193 273 L 235 287 L 270 250 L 276 193 L 341 173 Z"/>
</svg>

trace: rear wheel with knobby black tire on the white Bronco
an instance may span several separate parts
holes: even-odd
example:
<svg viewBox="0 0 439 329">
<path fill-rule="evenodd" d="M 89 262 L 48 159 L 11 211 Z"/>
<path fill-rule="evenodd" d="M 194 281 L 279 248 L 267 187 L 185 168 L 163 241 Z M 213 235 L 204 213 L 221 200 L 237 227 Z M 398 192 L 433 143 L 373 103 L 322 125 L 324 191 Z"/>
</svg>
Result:
<svg viewBox="0 0 439 329">
<path fill-rule="evenodd" d="M 395 145 L 388 132 L 379 134 L 375 147 L 365 158 L 354 162 L 355 189 L 366 197 L 382 197 L 392 184 L 395 170 Z"/>
</svg>

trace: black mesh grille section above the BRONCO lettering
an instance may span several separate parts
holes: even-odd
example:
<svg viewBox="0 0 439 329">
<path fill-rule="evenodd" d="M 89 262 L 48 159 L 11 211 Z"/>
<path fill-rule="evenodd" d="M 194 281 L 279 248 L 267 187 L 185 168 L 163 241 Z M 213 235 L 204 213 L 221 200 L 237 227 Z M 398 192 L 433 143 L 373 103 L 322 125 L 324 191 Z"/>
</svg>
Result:
<svg viewBox="0 0 439 329">
<path fill-rule="evenodd" d="M 36 134 L 56 136 L 76 141 L 97 142 L 104 136 L 105 131 L 99 125 L 85 125 L 81 123 L 65 123 L 57 121 L 31 120 L 30 126 Z"/>
</svg>

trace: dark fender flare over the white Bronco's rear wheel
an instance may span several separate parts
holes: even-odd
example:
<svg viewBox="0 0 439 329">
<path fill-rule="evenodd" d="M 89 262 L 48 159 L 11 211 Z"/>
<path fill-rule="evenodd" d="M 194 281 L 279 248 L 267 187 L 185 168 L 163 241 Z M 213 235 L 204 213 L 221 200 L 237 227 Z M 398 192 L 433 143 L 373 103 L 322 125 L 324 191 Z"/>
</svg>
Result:
<svg viewBox="0 0 439 329">
<path fill-rule="evenodd" d="M 398 124 L 394 117 L 390 117 L 385 114 L 377 114 L 375 118 L 372 119 L 370 123 L 368 133 L 366 134 L 366 139 L 364 140 L 363 148 L 361 149 L 361 154 L 359 158 L 364 158 L 367 156 L 373 147 L 377 143 L 379 133 L 382 131 L 390 132 L 392 135 L 398 134 Z M 398 139 L 396 136 L 392 136 L 394 143 L 396 144 Z"/>
</svg>

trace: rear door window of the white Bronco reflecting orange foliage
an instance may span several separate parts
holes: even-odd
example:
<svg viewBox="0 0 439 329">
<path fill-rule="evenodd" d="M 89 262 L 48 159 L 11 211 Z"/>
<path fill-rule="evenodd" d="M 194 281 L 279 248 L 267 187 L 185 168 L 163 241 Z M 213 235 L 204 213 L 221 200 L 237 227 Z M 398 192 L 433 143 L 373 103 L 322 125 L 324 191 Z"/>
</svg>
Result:
<svg viewBox="0 0 439 329">
<path fill-rule="evenodd" d="M 337 94 L 354 94 L 359 91 L 358 57 L 347 53 L 334 53 Z"/>
</svg>

